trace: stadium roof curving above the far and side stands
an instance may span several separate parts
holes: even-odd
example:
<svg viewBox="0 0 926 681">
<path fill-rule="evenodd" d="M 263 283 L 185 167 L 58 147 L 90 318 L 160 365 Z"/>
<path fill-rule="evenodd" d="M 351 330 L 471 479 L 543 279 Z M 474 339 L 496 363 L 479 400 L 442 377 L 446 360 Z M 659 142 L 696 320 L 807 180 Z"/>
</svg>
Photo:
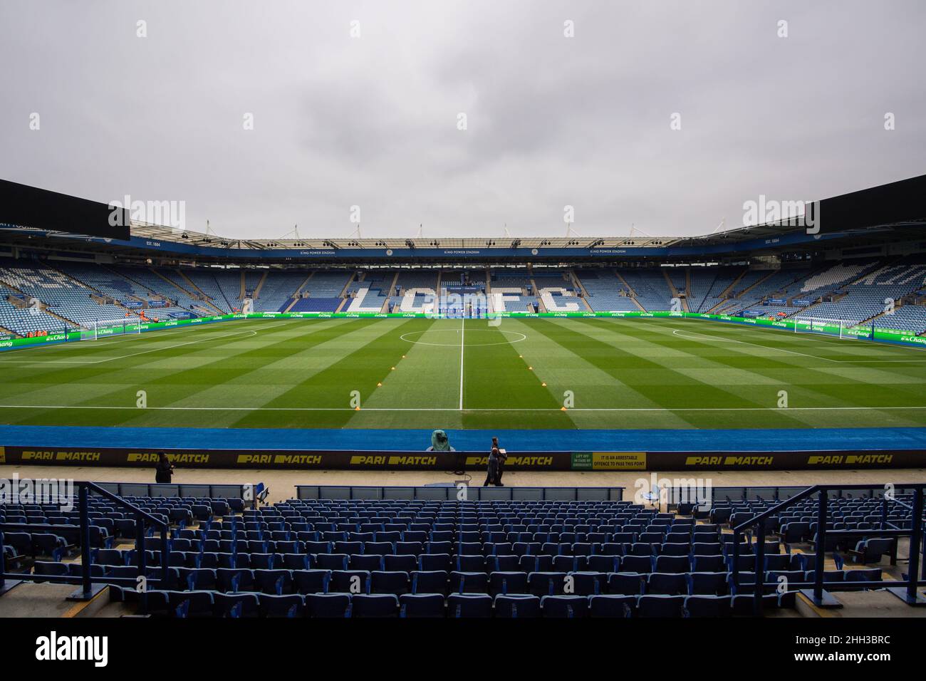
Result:
<svg viewBox="0 0 926 681">
<path fill-rule="evenodd" d="M 506 236 L 498 238 L 291 238 L 232 239 L 174 227 L 131 223 L 128 240 L 88 237 L 56 231 L 0 224 L 0 240 L 9 246 L 105 251 L 130 258 L 245 262 L 248 259 L 297 264 L 367 259 L 398 262 L 447 263 L 452 260 L 486 262 L 547 259 L 720 259 L 742 258 L 757 251 L 818 251 L 826 247 L 868 246 L 885 240 L 923 239 L 926 175 L 823 199 L 814 205 L 822 214 L 820 233 L 779 221 L 756 226 L 715 230 L 699 236 Z"/>
</svg>

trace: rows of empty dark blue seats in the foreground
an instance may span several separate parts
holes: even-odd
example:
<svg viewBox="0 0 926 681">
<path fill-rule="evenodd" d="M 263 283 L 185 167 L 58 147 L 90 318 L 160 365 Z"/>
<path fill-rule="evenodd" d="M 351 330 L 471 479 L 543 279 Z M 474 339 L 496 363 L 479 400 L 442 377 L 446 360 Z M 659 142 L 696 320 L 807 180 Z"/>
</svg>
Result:
<svg viewBox="0 0 926 681">
<path fill-rule="evenodd" d="M 766 609 L 793 609 L 817 568 L 815 498 L 779 512 L 766 536 L 743 536 L 735 551 L 729 528 L 777 499 L 715 499 L 709 510 L 679 509 L 687 515 L 630 501 L 332 498 L 253 508 L 241 498 L 123 499 L 169 523 L 167 582 L 161 538 L 148 532 L 144 546 L 120 548 L 137 536 L 136 520 L 94 496 L 91 570 L 113 585 L 111 599 L 153 616 L 716 617 L 753 612 L 757 573 L 771 583 Z M 910 500 L 833 498 L 827 530 L 910 528 Z M 4 535 L 10 569 L 39 581 L 82 574 L 70 560 L 81 545 L 79 509 L 5 504 L 0 523 L 29 528 Z M 144 603 L 125 585 L 139 550 L 155 585 Z M 897 559 L 895 539 L 834 536 L 827 551 L 829 591 L 873 587 L 890 567 L 883 561 Z"/>
</svg>

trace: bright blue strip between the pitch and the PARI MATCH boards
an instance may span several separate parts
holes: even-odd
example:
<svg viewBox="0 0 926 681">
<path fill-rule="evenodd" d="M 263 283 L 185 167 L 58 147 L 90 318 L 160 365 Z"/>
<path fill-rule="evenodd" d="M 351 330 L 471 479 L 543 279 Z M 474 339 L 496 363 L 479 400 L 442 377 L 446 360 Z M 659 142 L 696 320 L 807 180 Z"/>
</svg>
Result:
<svg viewBox="0 0 926 681">
<path fill-rule="evenodd" d="M 449 430 L 447 435 L 455 449 L 469 451 L 488 451 L 493 436 L 512 452 L 926 449 L 926 428 Z M 423 451 L 430 444 L 428 430 L 0 426 L 0 446 L 29 448 Z"/>
</svg>

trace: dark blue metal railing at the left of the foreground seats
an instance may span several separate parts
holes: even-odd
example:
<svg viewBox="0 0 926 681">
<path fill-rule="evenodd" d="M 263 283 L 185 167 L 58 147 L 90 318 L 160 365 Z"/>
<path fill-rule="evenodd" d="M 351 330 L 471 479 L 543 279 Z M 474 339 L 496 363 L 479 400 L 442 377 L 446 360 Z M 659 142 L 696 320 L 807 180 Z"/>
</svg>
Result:
<svg viewBox="0 0 926 681">
<path fill-rule="evenodd" d="M 78 498 L 79 498 L 79 511 L 81 514 L 81 523 L 80 523 L 80 544 L 81 544 L 81 575 L 67 575 L 67 574 L 29 574 L 29 573 L 7 573 L 6 572 L 6 563 L 4 558 L 4 542 L 3 542 L 3 531 L 5 529 L 15 529 L 15 530 L 24 530 L 35 532 L 36 529 L 41 528 L 43 532 L 48 530 L 53 530 L 55 527 L 68 527 L 73 528 L 75 525 L 62 525 L 62 524 L 23 524 L 23 523 L 0 523 L 0 593 L 8 590 L 9 584 L 7 580 L 13 580 L 14 583 L 19 582 L 52 582 L 58 584 L 79 584 L 81 587 L 75 591 L 72 595 L 72 599 L 80 600 L 89 600 L 92 599 L 99 589 L 94 590 L 94 584 L 130 584 L 131 586 L 136 586 L 138 584 L 137 577 L 106 577 L 106 576 L 96 576 L 94 577 L 91 570 L 91 546 L 90 546 L 90 508 L 89 508 L 89 499 L 90 493 L 93 492 L 94 495 L 109 499 L 117 506 L 131 511 L 135 515 L 135 558 L 136 565 L 138 567 L 138 575 L 146 577 L 147 573 L 147 555 L 144 549 L 144 536 L 145 536 L 145 523 L 149 526 L 154 527 L 156 530 L 160 530 L 161 533 L 161 564 L 160 564 L 160 578 L 155 581 L 167 584 L 169 581 L 169 523 L 156 518 L 154 515 L 143 511 L 134 504 L 126 501 L 123 498 L 117 497 L 115 494 L 109 492 L 104 487 L 101 487 L 95 483 L 91 482 L 75 482 L 74 486 L 78 488 Z M 54 534 L 54 533 L 52 533 Z M 144 597 L 144 589 L 143 589 Z"/>
</svg>

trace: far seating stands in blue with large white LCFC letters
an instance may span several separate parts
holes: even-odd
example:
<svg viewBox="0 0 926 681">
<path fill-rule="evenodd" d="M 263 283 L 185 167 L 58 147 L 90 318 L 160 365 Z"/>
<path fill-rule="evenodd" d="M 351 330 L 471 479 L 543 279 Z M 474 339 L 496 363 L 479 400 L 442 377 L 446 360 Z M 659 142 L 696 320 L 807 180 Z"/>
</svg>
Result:
<svg viewBox="0 0 926 681">
<path fill-rule="evenodd" d="M 399 311 L 412 289 L 434 291 L 439 309 L 466 309 L 480 314 L 486 301 L 456 286 L 469 282 L 480 289 L 488 279 L 488 298 L 497 311 L 545 311 L 541 294 L 553 289 L 555 305 L 575 304 L 594 311 L 657 311 L 671 309 L 671 282 L 692 312 L 744 316 L 842 320 L 847 325 L 875 323 L 884 328 L 926 332 L 917 294 L 926 287 L 926 262 L 920 257 L 859 259 L 782 270 L 741 267 L 559 268 L 537 271 L 369 270 L 369 271 L 242 271 L 239 269 L 175 270 L 81 263 L 51 264 L 36 260 L 0 260 L 0 326 L 28 335 L 65 326 L 92 326 L 127 314 L 152 319 L 231 313 L 241 309 L 242 292 L 251 292 L 255 311 L 332 312 Z M 437 291 L 440 282 L 441 291 Z M 449 291 L 448 291 L 449 287 Z M 460 289 L 462 290 L 462 289 Z M 396 291 L 398 293 L 396 293 Z M 530 291 L 530 293 L 528 293 Z M 442 296 L 443 292 L 443 296 Z M 95 297 L 94 297 L 95 296 Z M 564 300 L 561 296 L 576 296 Z M 582 297 L 579 297 L 582 296 Z M 42 305 L 30 311 L 28 301 Z M 104 302 L 103 298 L 106 299 Z M 885 300 L 895 311 L 885 313 Z M 404 311 L 420 311 L 426 293 L 415 296 Z M 587 308 L 585 307 L 587 304 Z M 556 309 L 556 308 L 555 308 Z"/>
</svg>

